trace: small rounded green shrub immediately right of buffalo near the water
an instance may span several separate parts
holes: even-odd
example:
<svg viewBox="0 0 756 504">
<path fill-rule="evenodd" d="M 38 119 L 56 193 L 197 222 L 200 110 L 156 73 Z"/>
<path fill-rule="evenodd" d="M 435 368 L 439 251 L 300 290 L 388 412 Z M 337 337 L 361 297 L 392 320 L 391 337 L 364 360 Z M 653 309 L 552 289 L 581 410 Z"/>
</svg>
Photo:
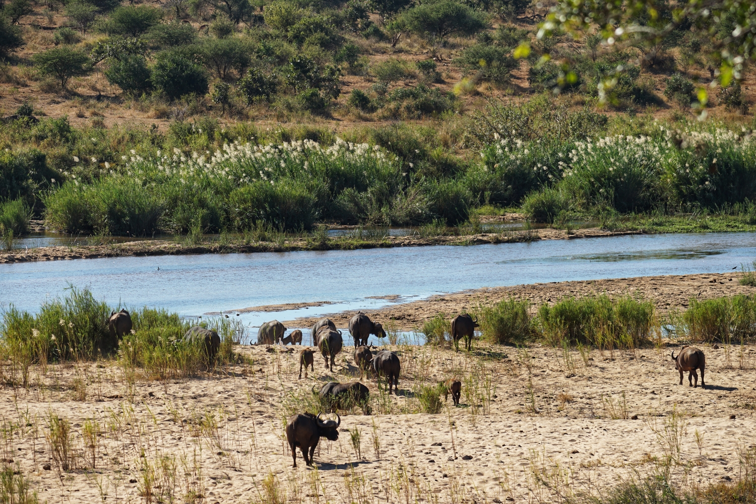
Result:
<svg viewBox="0 0 756 504">
<path fill-rule="evenodd" d="M 524 342 L 530 336 L 528 301 L 502 299 L 497 305 L 482 308 L 479 318 L 483 337 L 492 343 Z"/>
</svg>

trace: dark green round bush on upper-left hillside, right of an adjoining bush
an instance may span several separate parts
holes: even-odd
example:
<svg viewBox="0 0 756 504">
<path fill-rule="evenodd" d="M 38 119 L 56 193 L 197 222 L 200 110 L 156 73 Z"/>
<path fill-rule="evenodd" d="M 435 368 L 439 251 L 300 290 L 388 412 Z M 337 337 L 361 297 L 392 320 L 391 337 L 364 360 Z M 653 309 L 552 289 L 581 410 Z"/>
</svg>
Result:
<svg viewBox="0 0 756 504">
<path fill-rule="evenodd" d="M 184 94 L 206 94 L 207 77 L 202 67 L 184 54 L 166 51 L 156 57 L 152 67 L 153 85 L 170 98 Z"/>
</svg>

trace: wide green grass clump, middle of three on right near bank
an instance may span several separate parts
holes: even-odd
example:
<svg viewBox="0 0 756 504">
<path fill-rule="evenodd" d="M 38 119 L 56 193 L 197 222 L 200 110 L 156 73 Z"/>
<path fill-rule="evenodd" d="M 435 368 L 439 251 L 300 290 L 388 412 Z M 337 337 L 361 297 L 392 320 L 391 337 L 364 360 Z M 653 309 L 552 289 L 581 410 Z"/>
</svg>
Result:
<svg viewBox="0 0 756 504">
<path fill-rule="evenodd" d="M 538 310 L 541 337 L 549 345 L 587 344 L 599 348 L 636 348 L 658 327 L 652 301 L 607 295 L 567 298 Z"/>
</svg>

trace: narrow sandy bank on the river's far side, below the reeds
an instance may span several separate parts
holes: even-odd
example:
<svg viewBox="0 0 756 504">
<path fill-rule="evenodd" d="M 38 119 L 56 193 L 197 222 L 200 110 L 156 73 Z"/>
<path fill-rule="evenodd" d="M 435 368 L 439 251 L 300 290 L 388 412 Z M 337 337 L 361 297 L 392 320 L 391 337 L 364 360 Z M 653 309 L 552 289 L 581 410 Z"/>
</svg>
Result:
<svg viewBox="0 0 756 504">
<path fill-rule="evenodd" d="M 188 240 L 144 240 L 98 245 L 52 246 L 36 249 L 11 249 L 0 253 L 0 264 L 28 261 L 58 261 L 64 259 L 94 259 L 113 257 L 141 257 L 156 255 L 248 254 L 253 252 L 299 252 L 304 250 L 355 250 L 417 246 L 469 246 L 488 243 L 522 243 L 538 240 L 574 240 L 578 238 L 617 237 L 641 234 L 636 230 L 604 230 L 591 227 L 578 230 L 539 229 L 513 230 L 503 233 L 477 233 L 462 236 L 381 237 L 365 240 L 352 237 L 323 239 L 293 238 L 277 242 L 248 242 L 241 239 L 214 240 L 190 243 Z"/>
</svg>

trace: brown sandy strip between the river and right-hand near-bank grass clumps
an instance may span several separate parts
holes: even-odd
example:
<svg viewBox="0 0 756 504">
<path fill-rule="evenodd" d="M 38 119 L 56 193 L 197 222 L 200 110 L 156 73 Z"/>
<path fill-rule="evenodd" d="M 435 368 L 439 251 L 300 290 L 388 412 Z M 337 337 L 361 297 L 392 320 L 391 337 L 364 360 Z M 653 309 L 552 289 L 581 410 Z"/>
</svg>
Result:
<svg viewBox="0 0 756 504">
<path fill-rule="evenodd" d="M 659 314 L 670 310 L 685 310 L 691 298 L 708 299 L 723 295 L 754 294 L 756 287 L 738 283 L 742 273 L 664 275 L 658 277 L 610 278 L 606 280 L 575 280 L 572 282 L 533 283 L 508 287 L 469 289 L 463 292 L 435 295 L 421 301 L 392 305 L 379 310 L 364 310 L 371 319 L 396 329 L 411 331 L 423 325 L 439 313 L 449 317 L 462 311 L 475 311 L 479 306 L 495 304 L 502 299 L 527 299 L 531 311 L 544 302 L 555 303 L 559 299 L 575 296 L 606 294 L 615 298 L 623 295 L 639 295 L 652 299 Z M 356 311 L 343 311 L 328 317 L 336 326 L 348 327 L 349 319 Z M 317 318 L 287 320 L 284 325 L 309 327 Z M 293 324 L 293 325 L 290 325 Z"/>
</svg>

